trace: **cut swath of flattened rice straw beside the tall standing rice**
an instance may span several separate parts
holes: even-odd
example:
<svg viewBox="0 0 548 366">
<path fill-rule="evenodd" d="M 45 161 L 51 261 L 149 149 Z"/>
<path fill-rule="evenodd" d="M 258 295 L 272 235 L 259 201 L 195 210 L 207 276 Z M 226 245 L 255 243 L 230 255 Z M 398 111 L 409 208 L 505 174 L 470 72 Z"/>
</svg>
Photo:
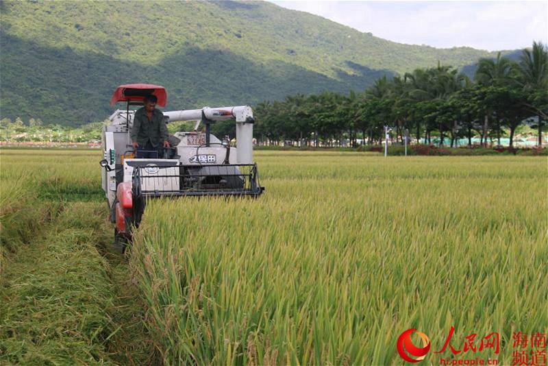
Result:
<svg viewBox="0 0 548 366">
<path fill-rule="evenodd" d="M 129 289 L 125 297 L 116 289 L 122 267 L 113 270 L 97 247 L 106 240 L 103 206 L 66 204 L 45 232 L 10 259 L 1 291 L 0 363 L 153 360 L 140 340 L 142 311 Z"/>
</svg>

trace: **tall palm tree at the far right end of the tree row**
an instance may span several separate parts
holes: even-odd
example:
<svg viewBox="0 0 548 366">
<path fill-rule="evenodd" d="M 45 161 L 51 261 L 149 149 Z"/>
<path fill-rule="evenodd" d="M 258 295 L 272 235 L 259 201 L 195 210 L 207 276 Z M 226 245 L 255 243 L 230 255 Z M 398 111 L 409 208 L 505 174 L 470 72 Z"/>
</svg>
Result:
<svg viewBox="0 0 548 366">
<path fill-rule="evenodd" d="M 548 47 L 533 42 L 531 50 L 524 49 L 519 61 L 520 81 L 530 96 L 527 107 L 538 117 L 538 145 L 543 145 L 543 119 L 547 119 L 548 106 Z"/>
</svg>

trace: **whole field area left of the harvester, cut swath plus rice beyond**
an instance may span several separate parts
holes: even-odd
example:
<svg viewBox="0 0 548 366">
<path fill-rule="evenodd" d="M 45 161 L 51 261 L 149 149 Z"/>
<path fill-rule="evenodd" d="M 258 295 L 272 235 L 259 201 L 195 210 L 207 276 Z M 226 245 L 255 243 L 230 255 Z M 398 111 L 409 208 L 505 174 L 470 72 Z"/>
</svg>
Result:
<svg viewBox="0 0 548 366">
<path fill-rule="evenodd" d="M 155 363 L 127 261 L 109 250 L 99 157 L 0 149 L 1 365 Z"/>
</svg>

